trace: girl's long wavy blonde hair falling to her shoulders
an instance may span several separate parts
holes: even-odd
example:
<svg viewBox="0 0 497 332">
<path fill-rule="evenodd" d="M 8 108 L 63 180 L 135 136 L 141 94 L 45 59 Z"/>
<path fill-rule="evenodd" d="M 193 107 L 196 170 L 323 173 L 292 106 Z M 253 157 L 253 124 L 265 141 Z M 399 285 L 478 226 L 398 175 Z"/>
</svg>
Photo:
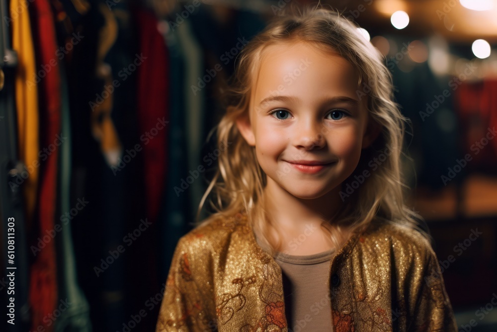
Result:
<svg viewBox="0 0 497 332">
<path fill-rule="evenodd" d="M 378 138 L 362 150 L 359 164 L 342 185 L 351 183 L 354 176 L 359 176 L 363 170 L 371 170 L 370 164 L 375 157 L 383 154 L 381 160 L 385 160 L 375 165 L 377 169 L 371 170 L 371 175 L 364 179 L 359 190 L 346 197 L 341 210 L 333 218 L 333 225 L 324 222 L 325 228 L 335 229 L 330 231 L 331 239 L 339 245 L 341 225 L 360 232 L 373 221 L 419 229 L 419 216 L 408 209 L 404 201 L 401 153 L 406 118 L 393 102 L 391 74 L 384 65 L 383 56 L 360 35 L 353 23 L 322 6 L 293 10 L 276 17 L 264 31 L 248 42 L 239 55 L 235 74 L 226 91 L 227 112 L 217 126 L 217 143 L 228 145 L 228 148 L 221 151 L 219 169 L 199 206 L 200 212 L 212 191 L 214 198 L 210 204 L 215 213 L 202 223 L 234 216 L 240 219 L 246 215 L 258 240 L 271 253 L 278 250 L 281 241 L 273 238 L 273 243 L 278 244 L 270 244 L 271 222 L 263 209 L 266 175 L 257 163 L 255 148 L 242 137 L 236 120 L 248 114 L 252 82 L 263 49 L 271 44 L 295 41 L 305 41 L 319 49 L 337 52 L 357 68 L 362 87 L 357 90 L 358 97 L 368 98 L 370 119 L 381 126 Z"/>
</svg>

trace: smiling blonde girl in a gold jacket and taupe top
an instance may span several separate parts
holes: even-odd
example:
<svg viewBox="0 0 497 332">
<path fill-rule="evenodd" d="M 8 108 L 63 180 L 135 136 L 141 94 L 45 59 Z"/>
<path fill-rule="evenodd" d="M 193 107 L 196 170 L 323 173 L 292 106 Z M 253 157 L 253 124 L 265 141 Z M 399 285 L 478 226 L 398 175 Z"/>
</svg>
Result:
<svg viewBox="0 0 497 332">
<path fill-rule="evenodd" d="M 457 331 L 404 203 L 390 73 L 356 27 L 276 18 L 229 93 L 217 212 L 179 240 L 157 331 Z"/>
</svg>

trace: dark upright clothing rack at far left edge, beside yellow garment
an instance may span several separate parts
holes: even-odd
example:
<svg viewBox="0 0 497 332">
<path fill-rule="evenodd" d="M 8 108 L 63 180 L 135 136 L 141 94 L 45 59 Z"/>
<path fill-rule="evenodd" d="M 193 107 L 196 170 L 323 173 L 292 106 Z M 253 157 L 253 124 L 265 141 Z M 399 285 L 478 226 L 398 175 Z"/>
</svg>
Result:
<svg viewBox="0 0 497 332">
<path fill-rule="evenodd" d="M 0 0 L 1 17 L 10 17 L 8 0 Z M 22 192 L 19 186 L 9 186 L 17 174 L 23 171 L 22 162 L 17 159 L 16 139 L 16 113 L 14 106 L 14 77 L 17 67 L 17 54 L 11 49 L 8 20 L 2 19 L 0 23 L 0 223 L 1 235 L 1 261 L 2 274 L 0 289 L 5 297 L 2 299 L 2 308 L 10 303 L 9 298 L 14 298 L 14 321 L 3 317 L 6 328 L 2 331 L 20 332 L 28 331 L 30 323 L 28 290 L 29 290 L 29 265 L 26 252 L 26 230 L 23 210 Z M 7 242 L 8 233 L 12 229 L 8 221 L 14 222 L 14 259 L 9 263 L 7 251 L 10 251 Z M 10 230 L 10 231 L 8 231 Z M 11 249 L 11 248 L 10 248 Z M 7 269 L 7 267 L 10 267 Z M 13 268 L 12 268 L 13 267 Z M 7 277 L 14 274 L 13 280 Z M 13 287 L 11 282 L 13 282 Z M 4 311 L 5 312 L 5 311 Z"/>
</svg>

